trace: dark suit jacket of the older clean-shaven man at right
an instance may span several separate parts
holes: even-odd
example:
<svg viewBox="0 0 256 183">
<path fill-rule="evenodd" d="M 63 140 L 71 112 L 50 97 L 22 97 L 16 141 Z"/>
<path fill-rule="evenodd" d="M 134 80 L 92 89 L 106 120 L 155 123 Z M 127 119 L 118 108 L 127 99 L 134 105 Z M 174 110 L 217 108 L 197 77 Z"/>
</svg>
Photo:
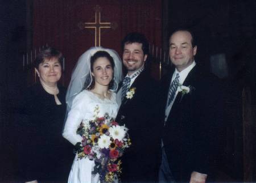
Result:
<svg viewBox="0 0 256 183">
<path fill-rule="evenodd" d="M 174 69 L 163 79 L 163 113 Z M 188 74 L 183 86 L 191 91 L 178 93 L 163 130 L 164 150 L 176 181 L 188 182 L 192 171 L 213 177 L 221 117 L 218 79 L 198 65 Z"/>
</svg>

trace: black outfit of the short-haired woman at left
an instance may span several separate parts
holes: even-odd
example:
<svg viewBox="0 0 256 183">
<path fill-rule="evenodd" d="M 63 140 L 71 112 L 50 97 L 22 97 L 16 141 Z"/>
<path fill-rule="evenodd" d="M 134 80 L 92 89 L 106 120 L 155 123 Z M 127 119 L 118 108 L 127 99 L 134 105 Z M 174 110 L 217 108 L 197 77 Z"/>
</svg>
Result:
<svg viewBox="0 0 256 183">
<path fill-rule="evenodd" d="M 62 137 L 66 90 L 59 87 L 61 105 L 40 83 L 28 88 L 24 99 L 22 169 L 26 181 L 67 182 L 71 169 L 71 144 Z"/>
</svg>

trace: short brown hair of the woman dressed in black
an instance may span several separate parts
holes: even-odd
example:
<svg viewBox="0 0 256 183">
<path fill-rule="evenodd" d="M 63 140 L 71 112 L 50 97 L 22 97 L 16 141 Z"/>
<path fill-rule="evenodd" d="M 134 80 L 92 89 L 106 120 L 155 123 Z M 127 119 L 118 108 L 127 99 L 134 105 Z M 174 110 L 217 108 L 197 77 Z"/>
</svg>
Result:
<svg viewBox="0 0 256 183">
<path fill-rule="evenodd" d="M 38 53 L 34 61 L 34 67 L 38 69 L 40 63 L 43 63 L 45 59 L 51 58 L 57 58 L 62 67 L 63 54 L 59 50 L 52 47 L 46 47 Z"/>
</svg>

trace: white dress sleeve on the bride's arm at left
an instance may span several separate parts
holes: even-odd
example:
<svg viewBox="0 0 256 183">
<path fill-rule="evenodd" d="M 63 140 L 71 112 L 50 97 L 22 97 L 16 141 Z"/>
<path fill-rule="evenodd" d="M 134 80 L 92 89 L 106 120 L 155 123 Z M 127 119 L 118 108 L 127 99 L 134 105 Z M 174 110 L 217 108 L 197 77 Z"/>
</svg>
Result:
<svg viewBox="0 0 256 183">
<path fill-rule="evenodd" d="M 63 130 L 63 137 L 73 145 L 82 141 L 81 135 L 76 134 L 76 131 L 82 121 L 82 114 L 84 113 L 82 110 L 85 108 L 84 100 L 86 99 L 84 99 L 84 95 L 82 95 L 83 93 L 80 94 L 73 100 L 73 104 L 68 113 L 67 121 L 65 122 Z"/>
</svg>

